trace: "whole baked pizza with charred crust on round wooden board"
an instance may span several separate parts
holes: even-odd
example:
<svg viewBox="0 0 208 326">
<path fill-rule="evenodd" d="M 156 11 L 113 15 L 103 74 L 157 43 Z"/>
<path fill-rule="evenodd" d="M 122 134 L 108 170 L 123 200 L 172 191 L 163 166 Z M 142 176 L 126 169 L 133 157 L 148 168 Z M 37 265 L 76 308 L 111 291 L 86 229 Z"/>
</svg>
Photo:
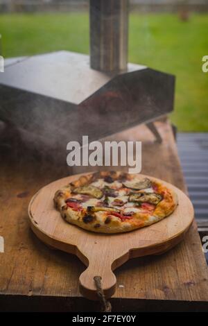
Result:
<svg viewBox="0 0 208 326">
<path fill-rule="evenodd" d="M 93 232 L 128 232 L 156 223 L 177 206 L 162 182 L 139 174 L 101 171 L 56 191 L 55 208 L 68 223 Z"/>
</svg>

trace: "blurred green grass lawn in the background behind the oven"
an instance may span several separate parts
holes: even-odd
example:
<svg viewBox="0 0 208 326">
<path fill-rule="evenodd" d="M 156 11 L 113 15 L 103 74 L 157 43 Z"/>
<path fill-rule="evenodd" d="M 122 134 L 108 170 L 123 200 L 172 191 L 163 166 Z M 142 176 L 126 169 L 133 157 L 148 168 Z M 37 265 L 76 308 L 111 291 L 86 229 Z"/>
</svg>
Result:
<svg viewBox="0 0 208 326">
<path fill-rule="evenodd" d="M 208 15 L 130 15 L 129 61 L 175 74 L 173 123 L 183 131 L 208 131 Z M 3 55 L 14 57 L 49 51 L 89 53 L 87 13 L 0 15 Z"/>
</svg>

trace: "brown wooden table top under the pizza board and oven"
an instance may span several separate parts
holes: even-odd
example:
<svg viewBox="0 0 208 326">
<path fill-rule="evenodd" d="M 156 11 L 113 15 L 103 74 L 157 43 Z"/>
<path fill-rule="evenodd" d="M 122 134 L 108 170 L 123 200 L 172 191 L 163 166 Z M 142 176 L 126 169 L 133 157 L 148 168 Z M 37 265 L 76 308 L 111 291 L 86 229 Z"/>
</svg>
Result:
<svg viewBox="0 0 208 326">
<path fill-rule="evenodd" d="M 146 126 L 111 138 L 143 141 L 141 173 L 186 191 L 171 126 L 160 121 L 157 128 L 162 144 L 155 144 Z M 45 162 L 36 162 L 37 157 L 20 155 L 12 148 L 11 153 L 9 159 L 8 155 L 1 157 L 0 169 L 0 235 L 5 241 L 5 252 L 0 253 L 0 310 L 98 310 L 98 302 L 83 298 L 78 289 L 78 277 L 85 266 L 77 257 L 45 246 L 28 225 L 27 208 L 33 194 L 69 175 L 67 168 L 46 168 Z M 208 309 L 207 264 L 196 223 L 184 241 L 169 252 L 132 259 L 115 274 L 118 285 L 110 300 L 113 311 Z"/>
</svg>

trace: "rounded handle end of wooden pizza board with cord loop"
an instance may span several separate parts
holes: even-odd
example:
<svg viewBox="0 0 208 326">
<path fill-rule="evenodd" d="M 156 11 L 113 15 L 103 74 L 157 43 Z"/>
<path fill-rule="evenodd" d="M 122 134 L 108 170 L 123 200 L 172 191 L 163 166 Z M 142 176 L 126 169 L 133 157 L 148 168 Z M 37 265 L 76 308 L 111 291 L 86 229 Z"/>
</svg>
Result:
<svg viewBox="0 0 208 326">
<path fill-rule="evenodd" d="M 110 298 L 116 289 L 116 276 L 111 269 L 112 263 L 105 266 L 101 264 L 101 260 L 96 262 L 90 261 L 89 266 L 80 275 L 80 292 L 90 300 L 98 300 L 96 293 L 95 276 L 101 277 L 101 286 L 105 294 L 105 298 Z"/>
</svg>

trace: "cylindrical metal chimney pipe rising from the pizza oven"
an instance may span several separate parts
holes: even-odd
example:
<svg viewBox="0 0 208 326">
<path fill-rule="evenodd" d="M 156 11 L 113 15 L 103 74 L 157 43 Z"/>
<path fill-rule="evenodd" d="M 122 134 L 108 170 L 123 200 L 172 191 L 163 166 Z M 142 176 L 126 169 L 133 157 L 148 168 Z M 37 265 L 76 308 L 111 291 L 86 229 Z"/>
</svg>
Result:
<svg viewBox="0 0 208 326">
<path fill-rule="evenodd" d="M 128 0 L 90 0 L 90 66 L 116 72 L 127 69 Z"/>
</svg>

